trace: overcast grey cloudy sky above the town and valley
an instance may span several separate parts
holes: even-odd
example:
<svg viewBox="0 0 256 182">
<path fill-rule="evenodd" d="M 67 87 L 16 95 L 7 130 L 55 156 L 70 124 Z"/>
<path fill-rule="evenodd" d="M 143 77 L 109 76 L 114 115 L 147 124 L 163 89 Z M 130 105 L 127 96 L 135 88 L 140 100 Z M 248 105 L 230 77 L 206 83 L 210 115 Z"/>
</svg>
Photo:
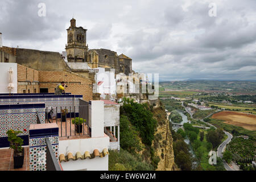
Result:
<svg viewBox="0 0 256 182">
<path fill-rule="evenodd" d="M 62 52 L 74 17 L 89 49 L 124 53 L 160 81 L 256 80 L 255 9 L 255 0 L 1 0 L 0 32 L 3 46 Z"/>
</svg>

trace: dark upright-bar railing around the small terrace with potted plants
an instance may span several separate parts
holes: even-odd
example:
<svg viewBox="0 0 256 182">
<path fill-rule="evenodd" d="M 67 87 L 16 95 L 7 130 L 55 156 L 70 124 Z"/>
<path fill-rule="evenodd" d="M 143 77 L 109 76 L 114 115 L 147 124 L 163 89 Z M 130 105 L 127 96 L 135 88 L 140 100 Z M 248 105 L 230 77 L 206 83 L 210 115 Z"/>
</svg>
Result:
<svg viewBox="0 0 256 182">
<path fill-rule="evenodd" d="M 79 106 L 46 107 L 46 123 L 55 122 L 59 126 L 59 137 L 75 137 L 88 135 L 91 137 L 89 125 L 89 103 L 81 102 Z M 81 125 L 76 125 L 75 119 L 85 119 Z"/>
</svg>

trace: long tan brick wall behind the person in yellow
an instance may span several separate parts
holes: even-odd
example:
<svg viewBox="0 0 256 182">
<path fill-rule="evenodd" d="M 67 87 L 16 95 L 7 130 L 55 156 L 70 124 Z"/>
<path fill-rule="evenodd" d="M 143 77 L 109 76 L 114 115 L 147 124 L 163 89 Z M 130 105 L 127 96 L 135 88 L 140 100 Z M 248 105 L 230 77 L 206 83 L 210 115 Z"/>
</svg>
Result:
<svg viewBox="0 0 256 182">
<path fill-rule="evenodd" d="M 49 93 L 54 93 L 61 81 L 68 85 L 65 92 L 82 95 L 85 101 L 93 99 L 93 80 L 69 71 L 39 71 L 39 88 L 48 88 Z"/>
</svg>

